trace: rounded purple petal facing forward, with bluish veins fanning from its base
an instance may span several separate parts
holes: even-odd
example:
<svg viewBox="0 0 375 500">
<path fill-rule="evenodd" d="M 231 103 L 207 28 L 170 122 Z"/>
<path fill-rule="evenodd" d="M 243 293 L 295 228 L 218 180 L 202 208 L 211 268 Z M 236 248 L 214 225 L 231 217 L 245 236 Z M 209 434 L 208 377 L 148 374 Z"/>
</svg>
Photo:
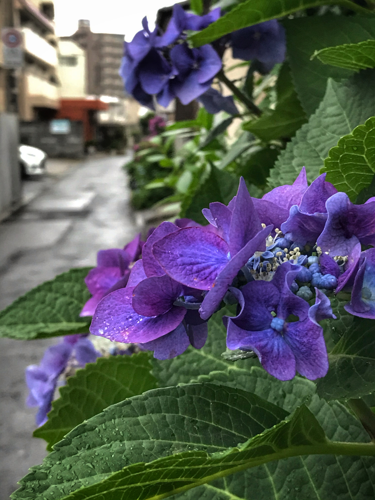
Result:
<svg viewBox="0 0 375 500">
<path fill-rule="evenodd" d="M 228 262 L 227 243 L 203 227 L 186 227 L 156 241 L 153 254 L 176 281 L 208 290 Z"/>
</svg>

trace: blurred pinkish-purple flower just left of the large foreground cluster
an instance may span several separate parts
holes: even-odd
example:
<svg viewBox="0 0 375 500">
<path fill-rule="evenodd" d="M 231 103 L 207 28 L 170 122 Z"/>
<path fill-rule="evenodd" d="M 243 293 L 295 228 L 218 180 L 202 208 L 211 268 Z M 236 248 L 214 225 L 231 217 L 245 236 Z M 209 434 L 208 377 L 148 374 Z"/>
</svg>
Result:
<svg viewBox="0 0 375 500">
<path fill-rule="evenodd" d="M 130 273 L 128 266 L 139 257 L 142 244 L 139 233 L 123 249 L 110 248 L 97 252 L 97 266 L 84 279 L 92 297 L 84 304 L 80 316 L 92 316 L 106 294 L 126 286 Z"/>
</svg>

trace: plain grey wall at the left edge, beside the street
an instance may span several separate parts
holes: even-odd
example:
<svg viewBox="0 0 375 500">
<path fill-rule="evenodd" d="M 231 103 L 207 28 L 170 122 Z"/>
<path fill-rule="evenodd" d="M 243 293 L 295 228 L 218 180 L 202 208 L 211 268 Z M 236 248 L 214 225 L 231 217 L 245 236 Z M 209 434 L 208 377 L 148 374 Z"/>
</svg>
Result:
<svg viewBox="0 0 375 500">
<path fill-rule="evenodd" d="M 20 198 L 18 118 L 12 113 L 0 113 L 0 219 L 11 212 Z"/>
</svg>

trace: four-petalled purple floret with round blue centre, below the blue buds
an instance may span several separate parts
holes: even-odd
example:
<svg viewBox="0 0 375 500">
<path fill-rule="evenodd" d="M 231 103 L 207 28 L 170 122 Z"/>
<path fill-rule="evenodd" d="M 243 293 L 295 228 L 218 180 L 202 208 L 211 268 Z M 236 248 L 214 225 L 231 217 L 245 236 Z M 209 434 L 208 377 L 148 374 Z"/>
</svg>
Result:
<svg viewBox="0 0 375 500">
<path fill-rule="evenodd" d="M 299 265 L 281 264 L 271 282 L 250 281 L 237 296 L 240 312 L 225 317 L 229 349 L 253 350 L 263 368 L 280 380 L 290 380 L 297 370 L 314 380 L 328 370 L 323 329 L 318 321 L 334 317 L 329 299 L 317 288 L 315 305 L 291 292 Z M 273 312 L 273 314 L 272 314 Z M 293 314 L 297 321 L 288 322 Z"/>
</svg>

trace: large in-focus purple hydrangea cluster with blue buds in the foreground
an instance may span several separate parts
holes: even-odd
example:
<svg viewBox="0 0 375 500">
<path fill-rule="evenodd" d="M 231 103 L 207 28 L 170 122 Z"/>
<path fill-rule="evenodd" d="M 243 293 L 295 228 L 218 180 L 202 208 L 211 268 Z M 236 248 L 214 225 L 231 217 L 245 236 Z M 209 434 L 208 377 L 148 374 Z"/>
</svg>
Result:
<svg viewBox="0 0 375 500">
<path fill-rule="evenodd" d="M 134 342 L 158 359 L 200 348 L 224 303 L 229 349 L 255 352 L 280 380 L 326 374 L 319 321 L 335 318 L 329 295 L 351 291 L 346 310 L 375 318 L 375 198 L 363 205 L 303 168 L 292 185 L 236 196 L 202 210 L 208 221 L 162 222 L 147 238 L 125 287 L 107 290 L 90 331 Z M 108 271 L 109 272 L 109 271 Z"/>
</svg>

